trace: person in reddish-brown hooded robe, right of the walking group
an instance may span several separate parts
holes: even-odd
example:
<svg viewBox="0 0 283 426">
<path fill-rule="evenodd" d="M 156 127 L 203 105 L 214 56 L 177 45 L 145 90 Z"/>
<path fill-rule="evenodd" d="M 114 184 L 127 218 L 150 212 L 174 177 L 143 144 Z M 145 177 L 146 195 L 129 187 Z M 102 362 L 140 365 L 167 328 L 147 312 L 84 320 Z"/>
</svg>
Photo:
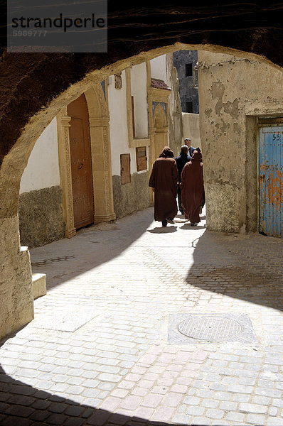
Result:
<svg viewBox="0 0 283 426">
<path fill-rule="evenodd" d="M 185 218 L 191 226 L 195 226 L 200 219 L 200 209 L 203 202 L 203 163 L 201 150 L 193 151 L 191 161 L 186 163 L 181 174 L 182 206 Z"/>
</svg>

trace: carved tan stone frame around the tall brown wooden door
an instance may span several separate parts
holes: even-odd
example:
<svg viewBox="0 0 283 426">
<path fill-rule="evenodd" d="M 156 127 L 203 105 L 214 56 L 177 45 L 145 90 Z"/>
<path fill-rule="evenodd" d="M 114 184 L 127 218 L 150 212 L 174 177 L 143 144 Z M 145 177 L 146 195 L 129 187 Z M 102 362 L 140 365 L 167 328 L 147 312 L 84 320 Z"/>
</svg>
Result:
<svg viewBox="0 0 283 426">
<path fill-rule="evenodd" d="M 105 86 L 107 85 L 105 84 Z M 83 93 L 85 94 L 90 121 L 92 185 L 95 202 L 94 222 L 110 222 L 116 219 L 116 214 L 114 213 L 113 203 L 110 115 L 107 107 L 107 94 L 103 92 L 100 83 L 95 84 Z M 70 166 L 70 116 L 68 116 L 67 107 L 63 108 L 57 115 L 57 129 L 65 237 L 71 238 L 76 234 L 76 230 Z"/>
</svg>

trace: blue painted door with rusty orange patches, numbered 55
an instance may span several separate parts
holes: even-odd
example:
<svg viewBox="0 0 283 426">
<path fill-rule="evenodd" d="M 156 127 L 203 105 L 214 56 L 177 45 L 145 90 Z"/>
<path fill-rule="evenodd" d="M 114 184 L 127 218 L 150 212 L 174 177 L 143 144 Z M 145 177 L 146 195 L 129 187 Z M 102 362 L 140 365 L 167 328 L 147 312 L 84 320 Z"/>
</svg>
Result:
<svg viewBox="0 0 283 426">
<path fill-rule="evenodd" d="M 262 127 L 259 143 L 259 231 L 283 236 L 283 126 Z"/>
</svg>

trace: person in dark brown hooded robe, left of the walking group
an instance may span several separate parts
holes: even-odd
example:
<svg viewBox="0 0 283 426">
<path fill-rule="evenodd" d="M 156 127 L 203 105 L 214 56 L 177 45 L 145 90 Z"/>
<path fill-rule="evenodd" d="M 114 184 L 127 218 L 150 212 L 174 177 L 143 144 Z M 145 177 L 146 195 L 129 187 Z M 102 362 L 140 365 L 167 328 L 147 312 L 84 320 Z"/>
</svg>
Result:
<svg viewBox="0 0 283 426">
<path fill-rule="evenodd" d="M 178 212 L 176 196 L 178 187 L 178 168 L 173 151 L 165 146 L 159 158 L 154 161 L 149 186 L 154 191 L 154 220 L 173 223 Z"/>
</svg>

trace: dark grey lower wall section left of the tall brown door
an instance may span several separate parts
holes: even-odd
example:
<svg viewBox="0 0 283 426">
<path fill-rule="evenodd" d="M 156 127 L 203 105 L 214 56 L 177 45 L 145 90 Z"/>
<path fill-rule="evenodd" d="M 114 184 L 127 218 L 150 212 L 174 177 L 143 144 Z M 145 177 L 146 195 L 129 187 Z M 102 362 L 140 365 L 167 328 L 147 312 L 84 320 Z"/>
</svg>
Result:
<svg viewBox="0 0 283 426">
<path fill-rule="evenodd" d="M 60 186 L 23 192 L 19 197 L 18 216 L 23 246 L 43 246 L 64 238 Z"/>
</svg>

